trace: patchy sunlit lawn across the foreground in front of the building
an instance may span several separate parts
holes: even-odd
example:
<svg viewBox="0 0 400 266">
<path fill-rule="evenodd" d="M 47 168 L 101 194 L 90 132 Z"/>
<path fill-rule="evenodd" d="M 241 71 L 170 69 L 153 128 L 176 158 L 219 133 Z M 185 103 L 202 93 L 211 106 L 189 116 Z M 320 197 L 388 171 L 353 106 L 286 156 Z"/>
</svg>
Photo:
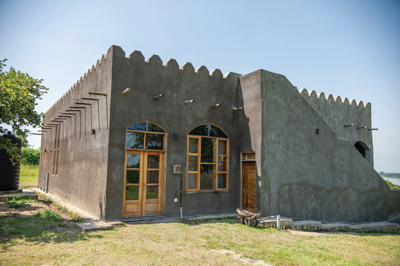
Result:
<svg viewBox="0 0 400 266">
<path fill-rule="evenodd" d="M 129 225 L 128 225 L 129 226 Z M 143 224 L 85 234 L 40 234 L 2 242 L 6 265 L 245 265 L 231 250 L 272 265 L 399 265 L 400 236 L 295 235 L 235 220 Z M 25 256 L 20 256 L 25 254 Z"/>
</svg>

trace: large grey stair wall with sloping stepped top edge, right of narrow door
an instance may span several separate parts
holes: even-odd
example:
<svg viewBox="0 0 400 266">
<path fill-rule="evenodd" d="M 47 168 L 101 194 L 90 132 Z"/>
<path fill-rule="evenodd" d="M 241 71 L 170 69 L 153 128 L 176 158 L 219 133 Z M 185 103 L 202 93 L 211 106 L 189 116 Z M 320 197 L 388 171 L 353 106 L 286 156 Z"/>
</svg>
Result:
<svg viewBox="0 0 400 266">
<path fill-rule="evenodd" d="M 400 214 L 399 191 L 390 191 L 286 77 L 262 70 L 261 99 L 264 215 L 365 222 Z"/>
</svg>

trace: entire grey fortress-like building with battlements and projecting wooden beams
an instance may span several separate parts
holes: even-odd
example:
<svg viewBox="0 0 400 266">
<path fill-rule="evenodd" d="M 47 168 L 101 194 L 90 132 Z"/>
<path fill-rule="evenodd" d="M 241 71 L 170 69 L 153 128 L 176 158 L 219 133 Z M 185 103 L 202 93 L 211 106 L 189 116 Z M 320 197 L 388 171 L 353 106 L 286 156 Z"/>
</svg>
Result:
<svg viewBox="0 0 400 266">
<path fill-rule="evenodd" d="M 400 214 L 373 168 L 370 103 L 262 69 L 223 76 L 112 46 L 43 123 L 38 185 L 49 173 L 49 193 L 104 220 L 179 217 L 180 199 L 183 216 Z"/>
</svg>

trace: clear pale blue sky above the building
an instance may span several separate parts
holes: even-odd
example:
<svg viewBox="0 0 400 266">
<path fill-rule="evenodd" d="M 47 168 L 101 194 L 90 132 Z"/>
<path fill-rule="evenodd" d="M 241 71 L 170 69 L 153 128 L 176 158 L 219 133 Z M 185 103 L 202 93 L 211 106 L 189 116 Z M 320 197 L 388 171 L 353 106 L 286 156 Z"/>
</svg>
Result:
<svg viewBox="0 0 400 266">
<path fill-rule="evenodd" d="M 0 12 L 0 57 L 50 88 L 39 112 L 113 44 L 222 73 L 262 68 L 371 102 L 375 169 L 400 172 L 400 1 L 0 0 Z"/>
</svg>

